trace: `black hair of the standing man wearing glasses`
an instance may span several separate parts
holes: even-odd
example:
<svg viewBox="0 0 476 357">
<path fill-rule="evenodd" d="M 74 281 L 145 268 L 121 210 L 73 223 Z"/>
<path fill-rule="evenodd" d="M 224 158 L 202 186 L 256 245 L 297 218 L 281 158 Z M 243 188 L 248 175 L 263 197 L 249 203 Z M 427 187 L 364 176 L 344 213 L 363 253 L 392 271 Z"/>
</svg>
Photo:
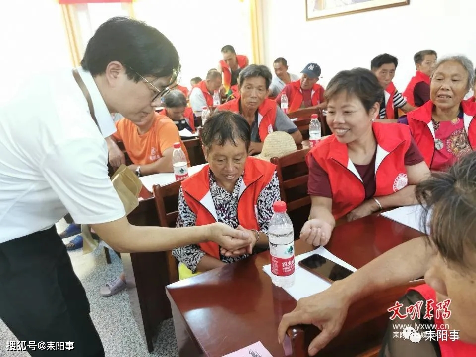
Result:
<svg viewBox="0 0 476 357">
<path fill-rule="evenodd" d="M 168 77 L 173 82 L 180 71 L 179 54 L 172 42 L 144 22 L 113 17 L 96 30 L 86 46 L 81 66 L 91 75 L 106 72 L 112 61 L 119 61 L 129 79 L 141 76 Z M 175 77 L 175 78 L 174 78 Z"/>
</svg>

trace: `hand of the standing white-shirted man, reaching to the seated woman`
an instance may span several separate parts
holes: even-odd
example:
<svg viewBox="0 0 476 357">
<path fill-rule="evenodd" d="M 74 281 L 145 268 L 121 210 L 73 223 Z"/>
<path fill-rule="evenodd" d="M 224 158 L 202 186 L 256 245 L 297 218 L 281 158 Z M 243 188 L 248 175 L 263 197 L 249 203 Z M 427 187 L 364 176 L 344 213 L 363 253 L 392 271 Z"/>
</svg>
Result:
<svg viewBox="0 0 476 357">
<path fill-rule="evenodd" d="M 253 232 L 248 230 L 233 229 L 225 223 L 212 223 L 210 227 L 210 240 L 217 243 L 228 251 L 234 252 L 240 249 L 248 249 L 253 241 Z"/>
</svg>

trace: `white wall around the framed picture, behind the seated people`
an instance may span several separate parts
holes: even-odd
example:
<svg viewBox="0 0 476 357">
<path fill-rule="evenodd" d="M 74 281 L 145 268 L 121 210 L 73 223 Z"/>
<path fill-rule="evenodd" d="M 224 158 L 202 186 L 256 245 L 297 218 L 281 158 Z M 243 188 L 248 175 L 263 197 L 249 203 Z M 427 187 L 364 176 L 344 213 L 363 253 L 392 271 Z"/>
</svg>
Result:
<svg viewBox="0 0 476 357">
<path fill-rule="evenodd" d="M 322 68 L 321 83 L 339 71 L 370 68 L 387 52 L 399 59 L 394 83 L 404 91 L 415 72 L 413 55 L 434 49 L 438 57 L 464 54 L 476 65 L 476 0 L 410 0 L 410 5 L 306 22 L 306 0 L 262 0 L 264 53 L 299 73 L 308 62 Z M 394 40 L 396 40 L 394 42 Z"/>
</svg>

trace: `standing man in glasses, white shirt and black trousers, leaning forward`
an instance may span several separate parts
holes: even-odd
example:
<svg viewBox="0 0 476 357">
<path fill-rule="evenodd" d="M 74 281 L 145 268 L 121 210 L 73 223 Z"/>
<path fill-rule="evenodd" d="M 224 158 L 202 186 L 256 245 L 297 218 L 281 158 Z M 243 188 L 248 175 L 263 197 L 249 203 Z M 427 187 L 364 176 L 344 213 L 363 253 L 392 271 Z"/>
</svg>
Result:
<svg viewBox="0 0 476 357">
<path fill-rule="evenodd" d="M 116 130 L 111 113 L 146 120 L 179 69 L 164 35 L 116 17 L 98 28 L 74 76 L 71 70 L 34 75 L 0 107 L 0 318 L 19 341 L 72 341 L 68 356 L 104 356 L 55 229 L 67 212 L 119 252 L 206 240 L 234 251 L 251 242 L 220 223 L 132 226 L 108 177 L 104 137 Z M 24 111 L 25 105 L 35 110 Z M 27 350 L 34 357 L 51 352 Z"/>
</svg>

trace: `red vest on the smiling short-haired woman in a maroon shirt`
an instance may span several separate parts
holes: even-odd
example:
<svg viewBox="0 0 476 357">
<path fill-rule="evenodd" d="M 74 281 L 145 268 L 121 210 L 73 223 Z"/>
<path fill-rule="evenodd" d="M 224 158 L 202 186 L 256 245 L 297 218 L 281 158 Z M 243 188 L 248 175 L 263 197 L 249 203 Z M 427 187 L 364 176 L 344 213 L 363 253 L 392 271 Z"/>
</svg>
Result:
<svg viewBox="0 0 476 357">
<path fill-rule="evenodd" d="M 405 153 L 410 147 L 410 130 L 397 123 L 372 123 L 377 140 L 375 159 L 375 197 L 386 196 L 407 186 Z M 334 218 L 345 216 L 365 200 L 365 187 L 356 167 L 349 159 L 347 145 L 331 135 L 320 141 L 307 154 L 329 176 L 332 191 L 332 214 Z"/>
</svg>

